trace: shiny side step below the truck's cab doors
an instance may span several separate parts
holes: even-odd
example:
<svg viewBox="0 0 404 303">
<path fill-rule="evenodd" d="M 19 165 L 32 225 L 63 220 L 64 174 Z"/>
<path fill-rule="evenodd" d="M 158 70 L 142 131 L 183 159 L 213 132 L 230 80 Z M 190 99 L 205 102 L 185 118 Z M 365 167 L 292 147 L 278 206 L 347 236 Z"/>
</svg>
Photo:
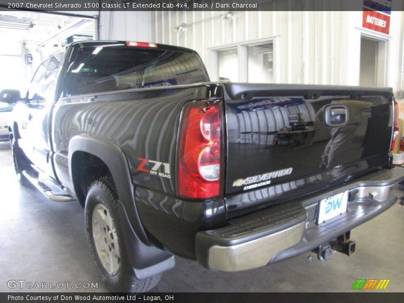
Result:
<svg viewBox="0 0 404 303">
<path fill-rule="evenodd" d="M 42 192 L 49 200 L 55 202 L 70 202 L 75 200 L 75 198 L 73 198 L 62 188 L 54 184 L 51 180 L 39 179 L 37 177 L 38 173 L 33 169 L 24 170 L 22 174 L 24 175 L 25 178 L 27 178 L 29 182 L 32 183 L 32 185 L 34 185 L 40 192 Z"/>
</svg>

